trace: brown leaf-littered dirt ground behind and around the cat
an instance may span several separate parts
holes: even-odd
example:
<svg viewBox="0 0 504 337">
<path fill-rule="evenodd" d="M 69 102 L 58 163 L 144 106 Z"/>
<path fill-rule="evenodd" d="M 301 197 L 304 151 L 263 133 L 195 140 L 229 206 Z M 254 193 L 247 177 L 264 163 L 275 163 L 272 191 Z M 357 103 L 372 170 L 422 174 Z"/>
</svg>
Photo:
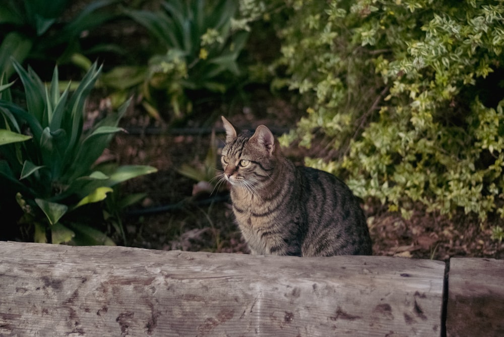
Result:
<svg viewBox="0 0 504 337">
<path fill-rule="evenodd" d="M 123 192 L 147 192 L 148 196 L 123 216 L 127 241 L 117 236 L 118 244 L 163 250 L 247 252 L 225 191 L 193 195 L 197 182 L 177 170 L 184 163 L 201 165 L 212 146 L 212 128 L 217 131 L 218 143 L 213 146 L 223 146 L 220 115 L 240 128 L 266 124 L 281 133 L 294 127 L 304 112 L 288 96 L 272 95 L 264 89 L 253 90 L 245 103 L 220 102 L 211 109 L 203 106 L 195 110 L 183 127 L 176 129 L 167 129 L 162 122 L 153 122 L 137 110 L 124 119 L 123 127 L 130 133 L 116 137 L 106 155 L 120 164 L 152 165 L 158 172 L 124 185 Z M 302 164 L 303 149 L 283 151 Z M 490 225 L 480 226 L 475 216 L 461 212 L 449 219 L 418 208 L 411 219 L 405 220 L 372 200 L 367 200 L 363 209 L 375 255 L 437 260 L 463 256 L 504 258 L 504 242 L 492 240 Z"/>
</svg>

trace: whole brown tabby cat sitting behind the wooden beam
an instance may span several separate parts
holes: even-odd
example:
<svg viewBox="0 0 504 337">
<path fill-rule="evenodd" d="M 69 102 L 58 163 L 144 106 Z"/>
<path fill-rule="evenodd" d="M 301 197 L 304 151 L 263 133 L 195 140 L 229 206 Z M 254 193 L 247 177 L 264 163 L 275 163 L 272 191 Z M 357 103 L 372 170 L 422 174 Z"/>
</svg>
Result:
<svg viewBox="0 0 504 337">
<path fill-rule="evenodd" d="M 295 167 L 264 125 L 236 134 L 222 117 L 223 178 L 253 254 L 370 255 L 371 239 L 352 191 L 334 175 Z"/>
</svg>

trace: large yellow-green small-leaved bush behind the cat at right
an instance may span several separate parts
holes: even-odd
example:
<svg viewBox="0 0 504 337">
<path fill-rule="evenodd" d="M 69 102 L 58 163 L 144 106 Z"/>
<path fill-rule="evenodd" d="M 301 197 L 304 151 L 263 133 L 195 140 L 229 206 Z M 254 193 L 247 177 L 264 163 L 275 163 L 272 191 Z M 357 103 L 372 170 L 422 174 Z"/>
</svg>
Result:
<svg viewBox="0 0 504 337">
<path fill-rule="evenodd" d="M 504 4 L 288 1 L 288 84 L 309 108 L 283 144 L 325 137 L 308 165 L 408 216 L 504 216 Z"/>
</svg>

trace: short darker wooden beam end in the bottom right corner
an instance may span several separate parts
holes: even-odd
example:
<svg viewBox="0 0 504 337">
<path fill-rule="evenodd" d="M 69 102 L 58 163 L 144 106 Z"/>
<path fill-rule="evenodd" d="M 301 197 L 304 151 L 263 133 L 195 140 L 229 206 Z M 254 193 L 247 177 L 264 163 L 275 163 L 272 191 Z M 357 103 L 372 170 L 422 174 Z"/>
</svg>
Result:
<svg viewBox="0 0 504 337">
<path fill-rule="evenodd" d="M 452 258 L 448 337 L 504 336 L 504 260 Z"/>
</svg>

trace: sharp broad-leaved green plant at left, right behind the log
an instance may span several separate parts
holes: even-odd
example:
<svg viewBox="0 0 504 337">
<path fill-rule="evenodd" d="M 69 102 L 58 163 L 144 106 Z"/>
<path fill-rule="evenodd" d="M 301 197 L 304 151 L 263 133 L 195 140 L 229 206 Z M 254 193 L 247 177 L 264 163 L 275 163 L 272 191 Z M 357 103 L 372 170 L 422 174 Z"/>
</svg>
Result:
<svg viewBox="0 0 504 337">
<path fill-rule="evenodd" d="M 116 132 L 129 101 L 84 130 L 85 101 L 101 67 L 94 63 L 75 92 L 61 93 L 58 70 L 50 84 L 13 60 L 26 107 L 13 102 L 10 85 L 0 86 L 0 183 L 24 211 L 21 223 L 33 225 L 36 242 L 113 244 L 105 234 L 69 215 L 97 203 L 122 181 L 155 172 L 150 166 L 94 166 Z"/>
</svg>

